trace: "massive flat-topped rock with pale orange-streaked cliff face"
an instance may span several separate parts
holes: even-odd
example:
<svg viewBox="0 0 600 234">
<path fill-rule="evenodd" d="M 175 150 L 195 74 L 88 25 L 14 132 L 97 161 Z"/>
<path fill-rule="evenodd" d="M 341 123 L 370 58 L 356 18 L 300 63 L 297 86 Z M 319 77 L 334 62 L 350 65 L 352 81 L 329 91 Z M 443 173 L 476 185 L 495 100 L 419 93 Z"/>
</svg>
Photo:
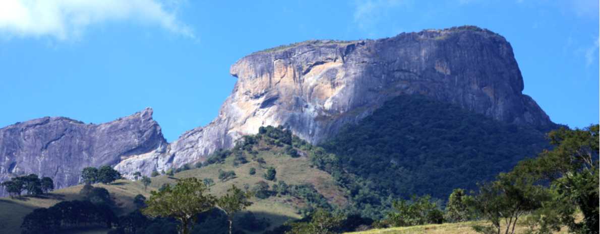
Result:
<svg viewBox="0 0 600 234">
<path fill-rule="evenodd" d="M 266 125 L 281 124 L 319 143 L 400 93 L 452 102 L 505 123 L 554 124 L 521 93 L 523 77 L 509 42 L 481 29 L 307 42 L 251 54 L 231 74 L 238 82 L 219 116 L 170 145 L 175 166 L 231 148 L 235 139 Z"/>
</svg>

